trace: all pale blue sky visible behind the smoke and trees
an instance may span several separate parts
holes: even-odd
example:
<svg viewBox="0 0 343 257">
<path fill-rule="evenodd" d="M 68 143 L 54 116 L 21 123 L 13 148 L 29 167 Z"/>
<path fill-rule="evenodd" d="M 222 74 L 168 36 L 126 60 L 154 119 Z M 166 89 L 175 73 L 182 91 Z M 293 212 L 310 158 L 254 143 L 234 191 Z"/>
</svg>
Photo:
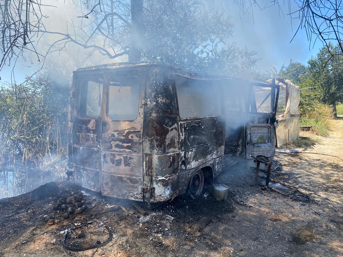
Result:
<svg viewBox="0 0 343 257">
<path fill-rule="evenodd" d="M 261 5 L 263 2 L 270 0 L 257 0 Z M 282 2 L 282 1 L 281 1 Z M 278 8 L 270 7 L 265 10 L 254 9 L 254 20 L 252 15 L 244 16 L 245 22 L 241 22 L 239 17 L 239 9 L 231 0 L 208 0 L 204 1 L 205 5 L 210 6 L 214 10 L 222 6 L 229 15 L 234 19 L 235 24 L 233 36 L 228 38 L 227 43 L 231 44 L 236 41 L 240 47 L 247 47 L 249 51 L 257 51 L 257 58 L 261 60 L 257 63 L 257 68 L 262 72 L 271 70 L 274 65 L 277 70 L 280 69 L 282 61 L 287 65 L 292 58 L 294 62 L 299 61 L 304 64 L 313 55 L 315 56 L 319 49 L 323 46 L 320 41 L 316 42 L 315 46 L 307 41 L 305 30 L 299 30 L 293 41 L 290 43 L 294 31 L 297 29 L 298 23 L 293 23 L 293 31 L 291 20 L 287 14 L 287 6 L 283 6 L 285 17 L 279 15 Z M 113 60 L 109 60 L 111 62 Z M 17 63 L 15 67 L 15 78 L 17 82 L 24 81 L 25 74 L 32 74 L 34 68 L 27 67 L 29 63 Z M 11 80 L 12 68 L 5 66 L 0 72 L 1 81 Z"/>
</svg>

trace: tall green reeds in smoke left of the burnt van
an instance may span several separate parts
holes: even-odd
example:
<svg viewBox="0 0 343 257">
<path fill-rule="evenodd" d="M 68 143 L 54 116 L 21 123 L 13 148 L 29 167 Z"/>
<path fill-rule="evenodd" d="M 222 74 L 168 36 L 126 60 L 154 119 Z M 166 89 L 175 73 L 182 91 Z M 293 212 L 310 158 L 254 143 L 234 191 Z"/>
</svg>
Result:
<svg viewBox="0 0 343 257">
<path fill-rule="evenodd" d="M 70 87 L 37 74 L 0 90 L 0 198 L 59 177 L 65 153 Z M 59 177 L 60 179 L 60 177 Z"/>
</svg>

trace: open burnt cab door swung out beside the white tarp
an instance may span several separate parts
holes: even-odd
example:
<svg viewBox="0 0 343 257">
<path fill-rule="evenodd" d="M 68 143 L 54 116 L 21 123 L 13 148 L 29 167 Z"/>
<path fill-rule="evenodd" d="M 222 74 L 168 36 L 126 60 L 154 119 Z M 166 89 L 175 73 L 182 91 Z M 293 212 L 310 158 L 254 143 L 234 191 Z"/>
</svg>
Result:
<svg viewBox="0 0 343 257">
<path fill-rule="evenodd" d="M 275 154 L 276 106 L 280 87 L 272 84 L 250 83 L 246 123 L 246 154 L 251 156 Z"/>
</svg>

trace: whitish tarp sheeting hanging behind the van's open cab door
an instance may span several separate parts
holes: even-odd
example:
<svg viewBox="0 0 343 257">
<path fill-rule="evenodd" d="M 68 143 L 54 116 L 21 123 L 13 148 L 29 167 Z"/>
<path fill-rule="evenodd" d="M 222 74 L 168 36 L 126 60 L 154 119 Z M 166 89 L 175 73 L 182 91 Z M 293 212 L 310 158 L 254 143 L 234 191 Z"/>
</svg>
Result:
<svg viewBox="0 0 343 257">
<path fill-rule="evenodd" d="M 268 82 L 271 81 L 271 79 L 268 80 Z M 286 79 L 285 82 L 287 85 L 277 80 L 275 81 L 275 84 L 280 86 L 277 109 L 282 111 L 276 113 L 276 118 L 279 121 L 279 127 L 276 129 L 277 146 L 297 140 L 300 133 L 300 115 L 298 108 L 300 102 L 300 87 L 294 85 L 288 79 Z M 286 87 L 288 89 L 288 99 L 286 99 Z"/>
</svg>

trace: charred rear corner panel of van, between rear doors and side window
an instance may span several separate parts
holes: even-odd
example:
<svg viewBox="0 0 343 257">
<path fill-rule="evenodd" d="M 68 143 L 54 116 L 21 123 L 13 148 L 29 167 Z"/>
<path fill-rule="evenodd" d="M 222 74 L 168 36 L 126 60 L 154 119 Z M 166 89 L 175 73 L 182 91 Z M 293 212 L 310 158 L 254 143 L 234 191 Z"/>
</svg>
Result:
<svg viewBox="0 0 343 257">
<path fill-rule="evenodd" d="M 170 67 L 152 66 L 147 70 L 144 109 L 144 185 L 149 201 L 172 199 L 177 195 L 179 133 L 176 89 Z M 153 193 L 150 188 L 153 188 Z"/>
</svg>

